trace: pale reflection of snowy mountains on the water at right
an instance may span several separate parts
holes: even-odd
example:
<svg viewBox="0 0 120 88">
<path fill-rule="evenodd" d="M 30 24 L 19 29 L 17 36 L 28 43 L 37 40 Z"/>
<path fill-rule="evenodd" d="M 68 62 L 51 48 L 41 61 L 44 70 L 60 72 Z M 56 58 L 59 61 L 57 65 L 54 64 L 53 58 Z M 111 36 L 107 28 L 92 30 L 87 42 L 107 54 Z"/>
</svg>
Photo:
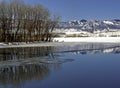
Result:
<svg viewBox="0 0 120 88">
<path fill-rule="evenodd" d="M 66 46 L 64 49 L 60 47 L 59 53 L 74 54 L 98 54 L 98 53 L 120 53 L 120 44 L 103 44 L 103 43 L 80 43 L 76 45 Z"/>
</svg>

